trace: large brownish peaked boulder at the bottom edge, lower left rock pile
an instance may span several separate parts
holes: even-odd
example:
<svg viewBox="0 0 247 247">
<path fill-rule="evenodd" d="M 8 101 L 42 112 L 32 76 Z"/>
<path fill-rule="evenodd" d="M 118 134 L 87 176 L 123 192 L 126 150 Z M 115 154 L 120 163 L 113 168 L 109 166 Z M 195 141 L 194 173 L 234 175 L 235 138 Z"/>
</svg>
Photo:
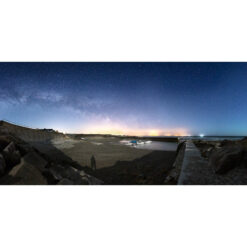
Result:
<svg viewBox="0 0 247 247">
<path fill-rule="evenodd" d="M 23 159 L 21 163 L 15 166 L 10 172 L 9 176 L 14 178 L 15 185 L 45 185 L 46 179 L 42 173 L 34 165 L 26 163 Z"/>
</svg>

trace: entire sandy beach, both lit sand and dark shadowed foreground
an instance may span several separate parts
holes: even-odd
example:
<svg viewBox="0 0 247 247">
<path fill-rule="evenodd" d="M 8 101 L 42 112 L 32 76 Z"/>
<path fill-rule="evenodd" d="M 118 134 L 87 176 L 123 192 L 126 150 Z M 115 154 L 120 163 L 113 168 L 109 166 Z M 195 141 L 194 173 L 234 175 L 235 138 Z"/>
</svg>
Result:
<svg viewBox="0 0 247 247">
<path fill-rule="evenodd" d="M 164 184 L 176 152 L 137 149 L 120 144 L 120 140 L 97 136 L 32 145 L 56 163 L 74 162 L 104 184 Z M 96 171 L 90 168 L 92 155 L 96 159 Z"/>
</svg>

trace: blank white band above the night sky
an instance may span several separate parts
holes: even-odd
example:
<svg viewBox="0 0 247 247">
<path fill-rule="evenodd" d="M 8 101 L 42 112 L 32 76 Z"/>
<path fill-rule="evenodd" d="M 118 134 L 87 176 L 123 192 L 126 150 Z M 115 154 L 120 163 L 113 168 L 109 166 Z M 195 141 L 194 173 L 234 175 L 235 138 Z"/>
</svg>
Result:
<svg viewBox="0 0 247 247">
<path fill-rule="evenodd" d="M 1 61 L 246 61 L 246 1 L 4 0 Z"/>
</svg>

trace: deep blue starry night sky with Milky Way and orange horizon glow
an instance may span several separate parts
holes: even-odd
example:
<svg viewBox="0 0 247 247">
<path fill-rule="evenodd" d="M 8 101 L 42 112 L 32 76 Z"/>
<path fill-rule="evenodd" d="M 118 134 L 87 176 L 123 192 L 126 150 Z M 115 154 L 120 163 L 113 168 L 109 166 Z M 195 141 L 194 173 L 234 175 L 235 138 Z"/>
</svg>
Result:
<svg viewBox="0 0 247 247">
<path fill-rule="evenodd" d="M 66 133 L 247 135 L 247 63 L 0 63 L 0 119 Z"/>
</svg>

